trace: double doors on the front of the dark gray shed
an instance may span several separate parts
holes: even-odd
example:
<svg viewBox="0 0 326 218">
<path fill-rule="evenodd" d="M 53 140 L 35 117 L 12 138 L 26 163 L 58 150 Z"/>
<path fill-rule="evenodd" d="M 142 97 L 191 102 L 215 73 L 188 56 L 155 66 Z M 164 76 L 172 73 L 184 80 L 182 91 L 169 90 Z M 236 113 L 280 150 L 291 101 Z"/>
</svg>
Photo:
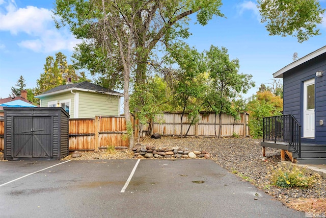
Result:
<svg viewBox="0 0 326 218">
<path fill-rule="evenodd" d="M 13 157 L 52 157 L 51 117 L 14 117 Z"/>
</svg>

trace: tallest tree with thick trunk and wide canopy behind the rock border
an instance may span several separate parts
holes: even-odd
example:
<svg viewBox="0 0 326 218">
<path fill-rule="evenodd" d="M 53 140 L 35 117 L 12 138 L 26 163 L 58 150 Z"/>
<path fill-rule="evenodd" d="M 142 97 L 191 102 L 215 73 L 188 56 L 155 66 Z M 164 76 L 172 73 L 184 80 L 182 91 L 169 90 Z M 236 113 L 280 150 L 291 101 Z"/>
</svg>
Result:
<svg viewBox="0 0 326 218">
<path fill-rule="evenodd" d="M 55 14 L 61 19 L 58 28 L 67 24 L 77 38 L 84 39 L 78 46 L 82 52 L 76 56 L 84 66 L 92 63 L 94 69 L 103 62 L 104 70 L 107 66 L 115 69 L 114 74 L 111 70 L 105 74 L 114 81 L 123 78 L 124 114 L 130 124 L 129 82 L 145 82 L 147 60 L 157 42 L 188 37 L 188 15 L 197 12 L 201 25 L 213 15 L 223 17 L 221 5 L 221 0 L 57 0 Z M 95 54 L 99 61 L 89 61 L 91 56 L 85 61 L 83 54 Z M 129 142 L 133 146 L 133 134 Z"/>
</svg>

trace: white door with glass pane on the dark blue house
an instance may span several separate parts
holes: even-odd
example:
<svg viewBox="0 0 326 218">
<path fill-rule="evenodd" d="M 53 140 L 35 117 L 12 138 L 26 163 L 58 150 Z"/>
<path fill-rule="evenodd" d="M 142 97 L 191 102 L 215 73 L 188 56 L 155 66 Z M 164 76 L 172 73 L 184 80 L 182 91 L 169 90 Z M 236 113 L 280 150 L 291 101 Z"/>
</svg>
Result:
<svg viewBox="0 0 326 218">
<path fill-rule="evenodd" d="M 304 82 L 304 137 L 315 137 L 315 79 Z"/>
</svg>

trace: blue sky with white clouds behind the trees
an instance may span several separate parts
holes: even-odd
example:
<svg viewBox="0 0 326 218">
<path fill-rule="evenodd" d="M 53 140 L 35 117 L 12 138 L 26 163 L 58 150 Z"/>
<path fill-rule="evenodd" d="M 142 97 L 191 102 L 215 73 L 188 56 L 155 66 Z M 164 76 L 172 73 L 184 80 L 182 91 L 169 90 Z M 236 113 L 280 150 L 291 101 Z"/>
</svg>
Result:
<svg viewBox="0 0 326 218">
<path fill-rule="evenodd" d="M 0 98 L 7 98 L 20 75 L 26 88 L 36 87 L 47 56 L 62 52 L 70 59 L 78 42 L 67 29 L 57 30 L 51 18 L 55 0 L 0 0 Z M 260 23 L 256 1 L 224 0 L 221 8 L 227 18 L 213 18 L 202 27 L 191 22 L 192 36 L 186 41 L 200 52 L 210 45 L 226 47 L 230 59 L 239 59 L 239 72 L 256 82 L 273 82 L 273 73 L 293 61 L 293 53 L 304 57 L 325 45 L 326 18 L 319 26 L 321 35 L 298 43 L 291 36 L 268 36 Z M 321 0 L 326 8 L 326 0 Z M 87 75 L 92 79 L 90 75 Z"/>
</svg>

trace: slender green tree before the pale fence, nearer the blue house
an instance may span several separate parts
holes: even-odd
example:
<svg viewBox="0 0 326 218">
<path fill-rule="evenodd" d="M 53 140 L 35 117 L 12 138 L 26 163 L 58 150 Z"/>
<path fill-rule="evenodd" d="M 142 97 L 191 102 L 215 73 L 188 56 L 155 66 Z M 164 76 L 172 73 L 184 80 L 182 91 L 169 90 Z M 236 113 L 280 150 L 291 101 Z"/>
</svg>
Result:
<svg viewBox="0 0 326 218">
<path fill-rule="evenodd" d="M 238 74 L 239 60 L 230 60 L 228 50 L 225 47 L 210 46 L 207 55 L 207 68 L 209 72 L 209 91 L 206 95 L 206 105 L 219 114 L 219 138 L 222 131 L 222 113 L 232 114 L 231 100 L 238 93 L 247 93 L 255 86 L 251 75 Z M 215 118 L 216 120 L 216 118 Z"/>
</svg>

